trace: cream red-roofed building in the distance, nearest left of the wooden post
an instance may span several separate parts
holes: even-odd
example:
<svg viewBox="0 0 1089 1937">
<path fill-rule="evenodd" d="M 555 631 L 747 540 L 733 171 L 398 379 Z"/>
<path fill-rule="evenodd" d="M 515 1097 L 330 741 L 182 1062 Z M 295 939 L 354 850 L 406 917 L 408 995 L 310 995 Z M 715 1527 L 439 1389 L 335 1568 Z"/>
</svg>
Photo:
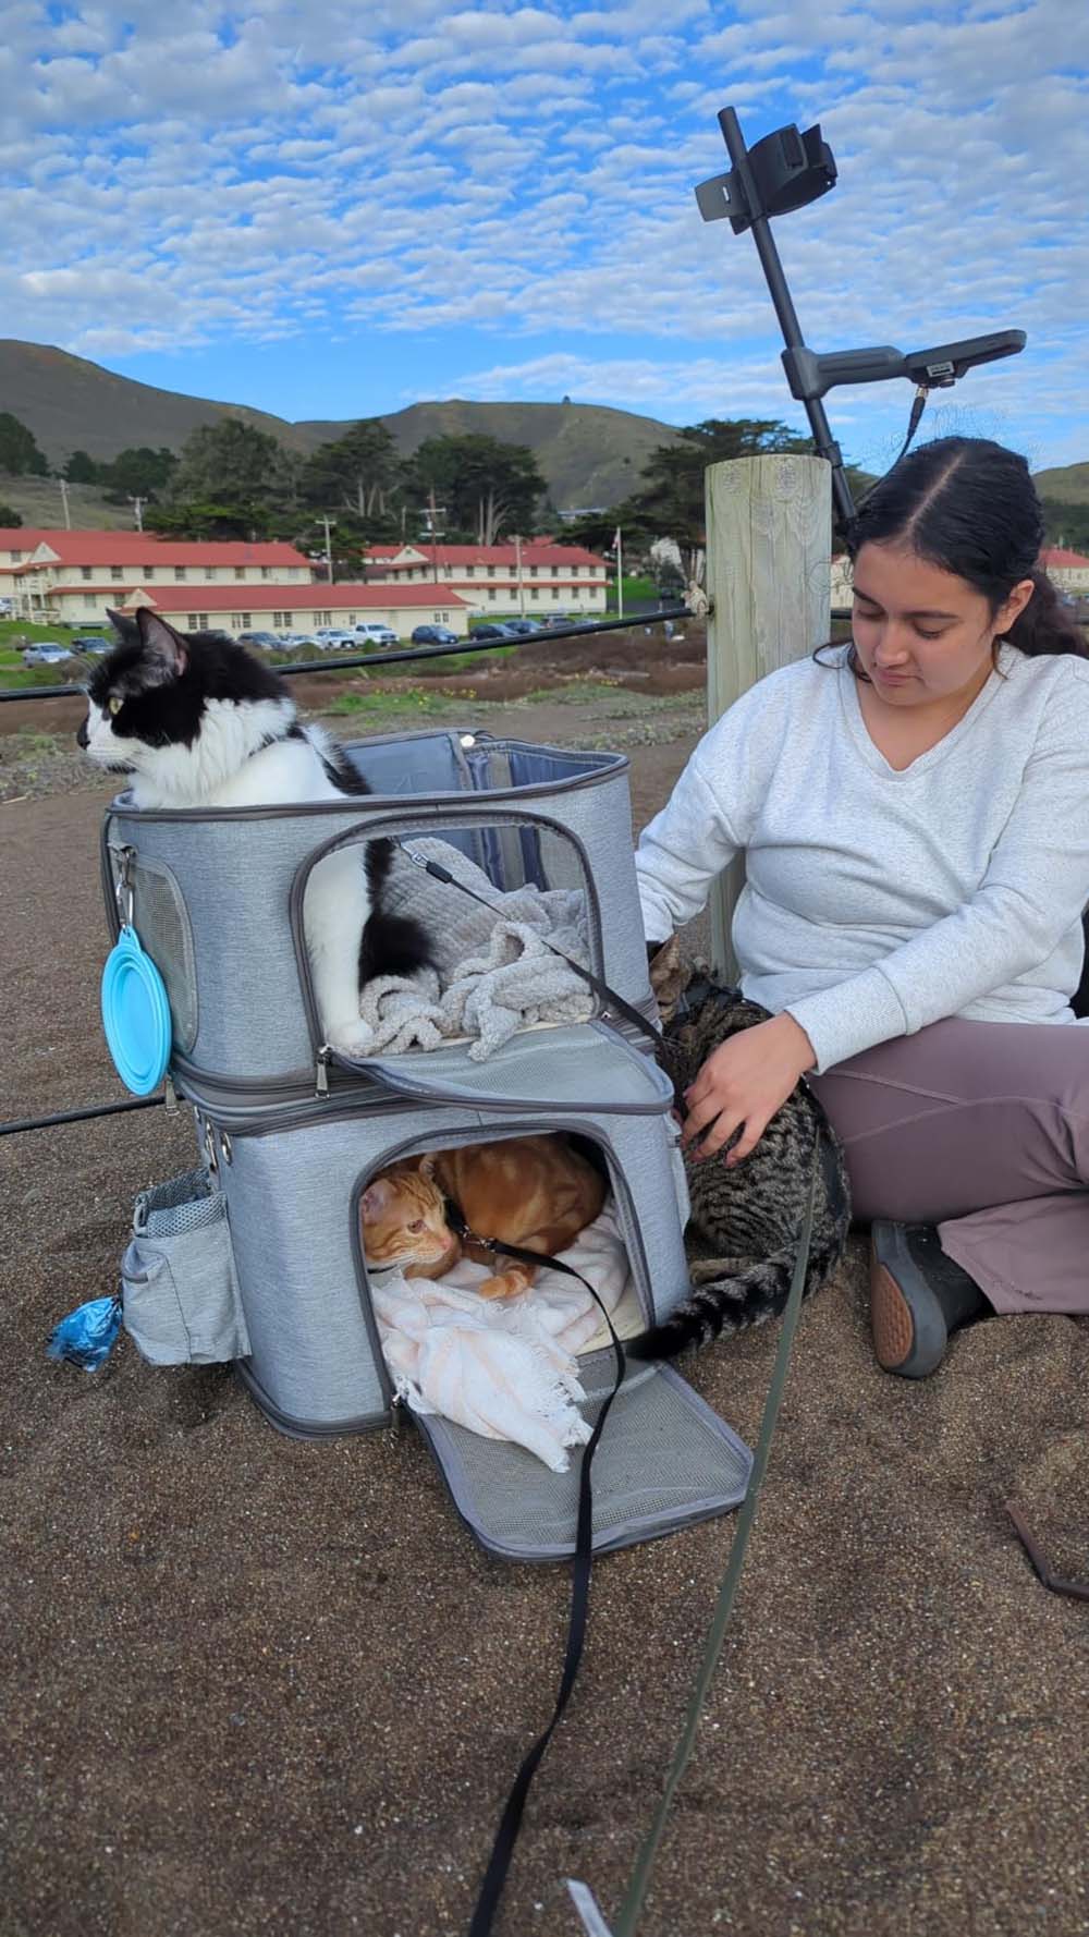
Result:
<svg viewBox="0 0 1089 1937">
<path fill-rule="evenodd" d="M 370 546 L 372 583 L 422 585 L 442 577 L 473 612 L 605 612 L 608 568 L 581 544 L 523 538 L 519 544 Z"/>
</svg>

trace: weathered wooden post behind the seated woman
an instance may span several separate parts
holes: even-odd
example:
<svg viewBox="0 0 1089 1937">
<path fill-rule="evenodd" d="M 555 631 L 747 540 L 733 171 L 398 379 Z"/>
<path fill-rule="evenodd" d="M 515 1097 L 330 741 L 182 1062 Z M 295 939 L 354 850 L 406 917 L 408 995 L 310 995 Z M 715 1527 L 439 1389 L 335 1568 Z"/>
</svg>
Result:
<svg viewBox="0 0 1089 1937">
<path fill-rule="evenodd" d="M 709 465 L 707 724 L 765 672 L 804 659 L 831 628 L 831 469 L 824 457 L 734 457 Z M 738 965 L 731 922 L 738 856 L 711 887 L 711 961 Z"/>
</svg>

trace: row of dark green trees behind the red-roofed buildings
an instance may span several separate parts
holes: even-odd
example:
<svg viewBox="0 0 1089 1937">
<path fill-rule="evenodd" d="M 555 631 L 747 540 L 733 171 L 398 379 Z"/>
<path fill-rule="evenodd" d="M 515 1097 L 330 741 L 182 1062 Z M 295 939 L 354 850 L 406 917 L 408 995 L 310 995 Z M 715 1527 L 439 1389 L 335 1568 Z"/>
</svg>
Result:
<svg viewBox="0 0 1089 1937">
<path fill-rule="evenodd" d="M 674 577 L 692 575 L 703 546 L 703 471 L 731 457 L 812 451 L 777 418 L 703 418 L 651 451 L 639 484 L 608 509 L 560 523 L 546 480 L 525 444 L 484 434 L 426 438 L 401 457 L 380 418 L 360 418 L 343 436 L 302 457 L 242 416 L 223 416 L 194 430 L 180 453 L 136 446 L 107 463 L 72 451 L 58 475 L 97 484 L 114 504 L 143 502 L 143 527 L 172 538 L 287 538 L 318 556 L 326 538 L 335 577 L 357 577 L 368 544 L 419 542 L 436 533 L 448 542 L 494 544 L 513 533 L 552 533 L 605 550 L 616 527 L 632 560 L 659 538 L 680 550 Z M 0 413 L 0 473 L 48 477 L 50 465 L 33 432 Z M 872 482 L 847 467 L 858 498 Z M 1089 548 L 1089 504 L 1042 500 L 1048 544 Z M 17 513 L 0 506 L 0 521 Z M 326 531 L 327 519 L 327 531 Z M 835 535 L 833 535 L 835 538 Z M 657 571 L 670 577 L 669 562 Z"/>
</svg>

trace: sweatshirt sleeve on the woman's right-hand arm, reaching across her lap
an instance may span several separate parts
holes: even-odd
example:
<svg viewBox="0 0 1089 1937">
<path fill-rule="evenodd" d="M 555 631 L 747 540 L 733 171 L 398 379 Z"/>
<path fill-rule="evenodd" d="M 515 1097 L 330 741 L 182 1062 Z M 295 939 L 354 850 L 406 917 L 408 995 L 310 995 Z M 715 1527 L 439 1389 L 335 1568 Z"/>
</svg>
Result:
<svg viewBox="0 0 1089 1937">
<path fill-rule="evenodd" d="M 1039 968 L 1089 901 L 1089 672 L 1056 692 L 986 874 L 963 907 L 833 988 L 787 1003 L 816 1069 L 915 1034 Z"/>
</svg>

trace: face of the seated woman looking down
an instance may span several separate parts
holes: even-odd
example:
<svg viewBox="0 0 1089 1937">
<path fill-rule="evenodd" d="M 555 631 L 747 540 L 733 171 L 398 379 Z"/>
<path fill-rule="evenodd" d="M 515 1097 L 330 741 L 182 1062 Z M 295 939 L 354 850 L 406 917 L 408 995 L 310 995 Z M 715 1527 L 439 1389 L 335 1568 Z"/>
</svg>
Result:
<svg viewBox="0 0 1089 1937">
<path fill-rule="evenodd" d="M 884 701 L 932 705 L 979 692 L 992 668 L 992 645 L 1033 597 L 1023 579 L 998 612 L 967 579 L 915 552 L 864 544 L 855 560 L 851 631 L 862 672 Z"/>
</svg>

